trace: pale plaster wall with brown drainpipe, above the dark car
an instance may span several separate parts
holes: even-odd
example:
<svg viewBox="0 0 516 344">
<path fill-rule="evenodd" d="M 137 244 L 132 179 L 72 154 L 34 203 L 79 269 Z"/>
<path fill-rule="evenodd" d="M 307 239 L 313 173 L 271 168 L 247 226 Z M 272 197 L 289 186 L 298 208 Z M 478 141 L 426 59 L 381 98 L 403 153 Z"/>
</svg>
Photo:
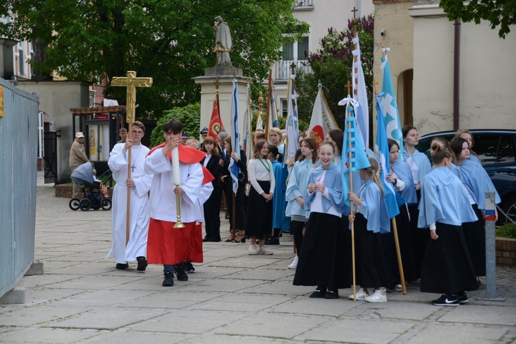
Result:
<svg viewBox="0 0 516 344">
<path fill-rule="evenodd" d="M 438 5 L 414 6 L 413 125 L 420 135 L 453 129 L 454 28 Z M 462 23 L 460 129 L 516 128 L 516 35 Z"/>
</svg>

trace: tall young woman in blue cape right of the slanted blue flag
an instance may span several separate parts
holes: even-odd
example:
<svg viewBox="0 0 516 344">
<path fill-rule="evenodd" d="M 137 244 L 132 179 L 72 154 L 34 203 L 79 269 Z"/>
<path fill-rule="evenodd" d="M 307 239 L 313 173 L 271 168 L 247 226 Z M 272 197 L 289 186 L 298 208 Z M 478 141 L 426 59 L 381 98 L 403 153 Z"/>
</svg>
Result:
<svg viewBox="0 0 516 344">
<path fill-rule="evenodd" d="M 403 160 L 409 164 L 412 172 L 413 187 L 416 189 L 416 195 L 418 196 L 418 202 L 420 200 L 420 189 L 421 183 L 424 180 L 424 176 L 427 175 L 430 170 L 430 161 L 427 155 L 421 153 L 416 149 L 416 145 L 419 143 L 418 129 L 406 125 L 401 129 L 403 135 Z M 413 250 L 414 250 L 414 264 L 416 266 L 416 277 L 420 277 L 421 264 L 424 256 L 424 250 L 427 248 L 428 233 L 424 228 L 418 228 L 418 205 L 409 205 L 410 215 L 410 229 L 412 231 L 413 239 Z M 418 279 L 412 281 L 418 283 Z"/>
</svg>

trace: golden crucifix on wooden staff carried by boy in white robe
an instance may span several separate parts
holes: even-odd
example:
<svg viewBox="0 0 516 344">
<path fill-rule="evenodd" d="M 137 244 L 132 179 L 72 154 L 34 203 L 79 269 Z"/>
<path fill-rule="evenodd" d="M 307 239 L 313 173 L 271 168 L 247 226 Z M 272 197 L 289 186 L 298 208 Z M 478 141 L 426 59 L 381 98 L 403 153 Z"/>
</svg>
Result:
<svg viewBox="0 0 516 344">
<path fill-rule="evenodd" d="M 125 120 L 129 123 L 127 131 L 127 140 L 131 139 L 131 126 L 134 123 L 136 109 L 136 87 L 151 87 L 152 78 L 136 78 L 136 72 L 127 72 L 127 77 L 117 76 L 111 80 L 111 86 L 127 87 L 127 107 Z M 131 179 L 131 147 L 127 153 L 127 179 Z M 129 215 L 131 211 L 131 188 L 127 187 L 127 214 L 125 226 L 125 246 L 129 242 Z"/>
</svg>

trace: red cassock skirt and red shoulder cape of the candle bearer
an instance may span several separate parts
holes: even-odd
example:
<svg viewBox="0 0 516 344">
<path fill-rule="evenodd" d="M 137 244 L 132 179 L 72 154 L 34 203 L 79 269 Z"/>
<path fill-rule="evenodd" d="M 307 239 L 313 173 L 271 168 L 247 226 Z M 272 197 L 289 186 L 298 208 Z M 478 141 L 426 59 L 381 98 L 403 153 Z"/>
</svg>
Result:
<svg viewBox="0 0 516 344">
<path fill-rule="evenodd" d="M 166 143 L 154 147 L 149 155 Z M 206 153 L 181 145 L 179 159 L 184 164 L 195 164 L 206 156 Z M 169 159 L 171 160 L 171 152 Z M 204 178 L 202 184 L 211 182 L 213 175 L 202 165 Z M 175 211 L 175 205 L 173 206 Z M 202 211 L 200 204 L 199 211 Z M 184 222 L 184 228 L 173 228 L 175 222 L 151 218 L 149 237 L 147 239 L 147 261 L 149 264 L 173 265 L 182 261 L 202 263 L 202 224 L 200 222 Z"/>
</svg>

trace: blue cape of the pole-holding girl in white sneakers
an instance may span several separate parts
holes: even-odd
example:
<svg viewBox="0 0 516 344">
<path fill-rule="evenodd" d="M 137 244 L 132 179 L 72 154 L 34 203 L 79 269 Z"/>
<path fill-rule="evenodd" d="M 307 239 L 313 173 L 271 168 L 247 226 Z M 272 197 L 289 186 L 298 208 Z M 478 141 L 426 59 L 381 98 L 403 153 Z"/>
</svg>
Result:
<svg viewBox="0 0 516 344">
<path fill-rule="evenodd" d="M 357 212 L 367 219 L 367 230 L 373 233 L 389 233 L 391 231 L 391 221 L 387 212 L 385 197 L 378 185 L 373 180 L 367 180 L 356 195 L 362 200 Z"/>
</svg>

